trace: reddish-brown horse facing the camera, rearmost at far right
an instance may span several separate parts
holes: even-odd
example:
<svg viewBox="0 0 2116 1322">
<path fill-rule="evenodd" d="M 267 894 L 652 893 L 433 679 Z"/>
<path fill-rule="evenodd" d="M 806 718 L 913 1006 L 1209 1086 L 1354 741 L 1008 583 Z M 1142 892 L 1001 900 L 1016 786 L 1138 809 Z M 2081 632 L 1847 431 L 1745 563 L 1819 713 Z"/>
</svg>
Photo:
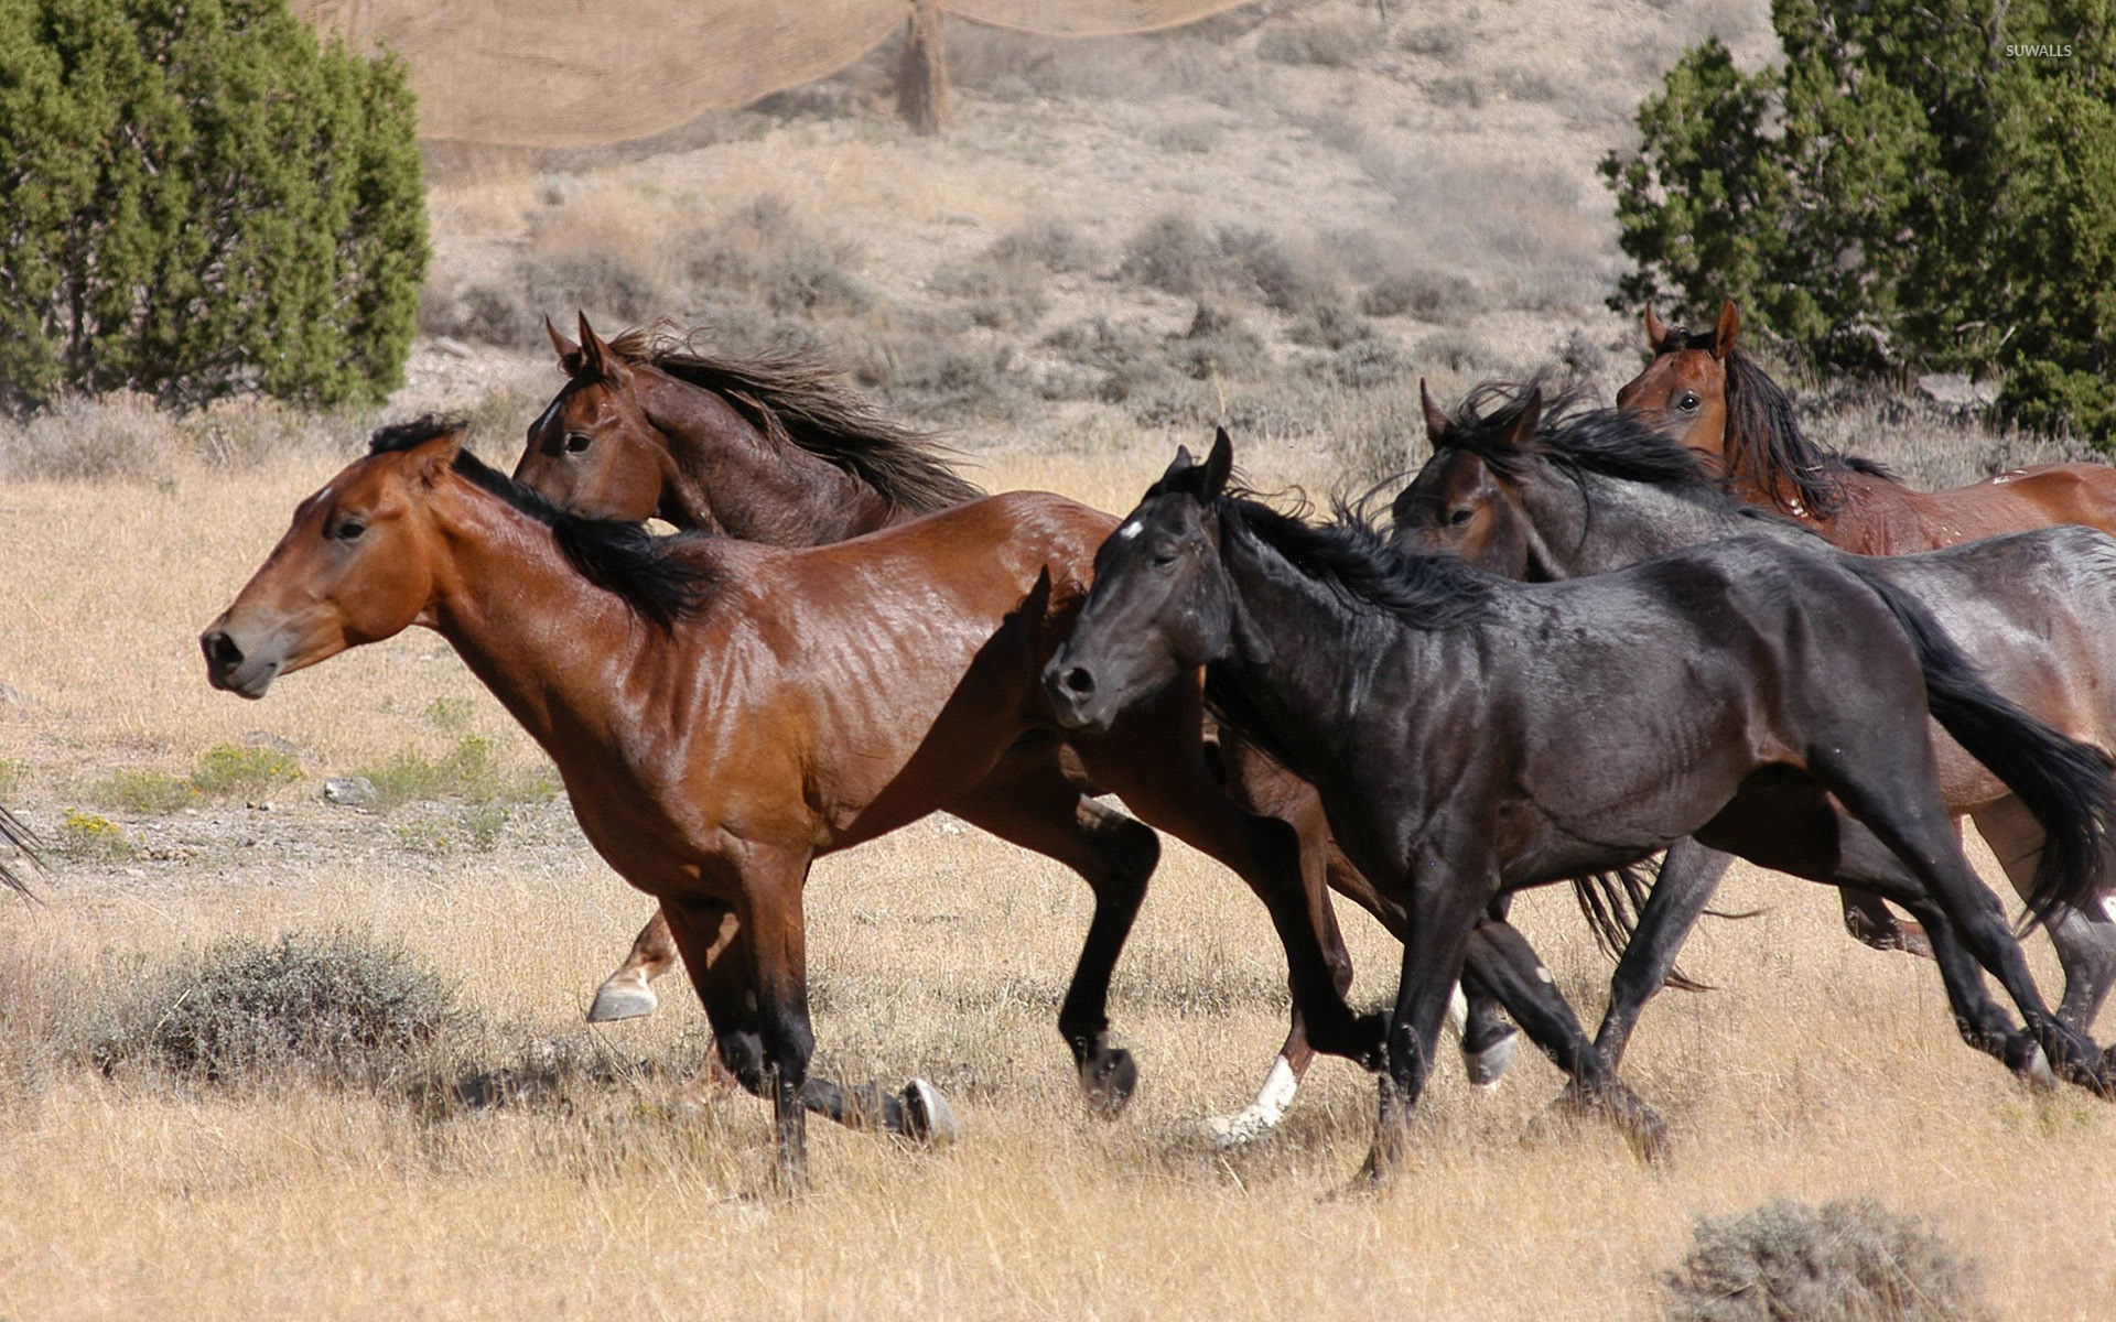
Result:
<svg viewBox="0 0 2116 1322">
<path fill-rule="evenodd" d="M 1894 556 L 1976 537 L 2078 522 L 2116 533 L 2116 467 L 2044 463 L 1970 486 L 1913 491 L 1885 467 L 1801 434 L 1792 400 L 1737 347 L 1733 300 L 1703 334 L 1667 328 L 1646 309 L 1653 360 L 1617 391 L 1617 406 L 1655 423 L 1737 497 L 1790 514 L 1841 550 Z M 1845 890 L 1845 926 L 1877 950 L 1932 954 L 1915 922 Z"/>
</svg>

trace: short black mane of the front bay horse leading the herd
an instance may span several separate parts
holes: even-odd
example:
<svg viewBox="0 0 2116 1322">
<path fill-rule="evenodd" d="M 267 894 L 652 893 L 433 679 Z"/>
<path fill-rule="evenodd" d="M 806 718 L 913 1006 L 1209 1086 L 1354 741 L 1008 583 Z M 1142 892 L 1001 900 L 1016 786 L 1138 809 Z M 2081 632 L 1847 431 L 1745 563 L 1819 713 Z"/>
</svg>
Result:
<svg viewBox="0 0 2116 1322">
<path fill-rule="evenodd" d="M 381 427 L 368 440 L 368 453 L 394 455 L 461 429 L 461 421 L 425 415 Z M 455 453 L 455 474 L 548 527 L 567 563 L 584 580 L 616 592 L 633 611 L 660 628 L 671 628 L 681 616 L 698 609 L 711 592 L 711 571 L 675 554 L 700 533 L 656 537 L 637 522 L 569 514 L 540 491 L 489 467 L 468 448 Z"/>
</svg>

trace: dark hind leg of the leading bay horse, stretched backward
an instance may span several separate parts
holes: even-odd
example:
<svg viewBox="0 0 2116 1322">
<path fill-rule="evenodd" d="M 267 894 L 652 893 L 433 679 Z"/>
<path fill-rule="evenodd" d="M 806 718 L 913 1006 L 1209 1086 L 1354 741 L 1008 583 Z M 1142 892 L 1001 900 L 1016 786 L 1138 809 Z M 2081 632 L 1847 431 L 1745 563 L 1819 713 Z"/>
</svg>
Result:
<svg viewBox="0 0 2116 1322">
<path fill-rule="evenodd" d="M 1119 717 L 1107 734 L 1069 740 L 1098 785 L 1117 793 L 1147 825 L 1232 867 L 1263 899 L 1287 950 L 1293 1007 L 1316 1051 L 1365 1066 L 1380 1064 L 1380 1015 L 1354 1015 L 1337 990 L 1335 967 L 1348 962 L 1337 916 L 1320 869 L 1301 867 L 1295 827 L 1242 812 L 1221 793 L 1204 759 L 1200 694 L 1170 685 Z"/>
</svg>

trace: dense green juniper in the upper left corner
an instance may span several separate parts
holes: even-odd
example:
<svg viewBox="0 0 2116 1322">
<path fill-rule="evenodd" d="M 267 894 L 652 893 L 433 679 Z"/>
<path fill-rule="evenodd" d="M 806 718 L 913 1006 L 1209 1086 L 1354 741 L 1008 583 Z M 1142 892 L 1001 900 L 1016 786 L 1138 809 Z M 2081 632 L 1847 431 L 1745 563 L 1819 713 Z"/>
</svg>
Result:
<svg viewBox="0 0 2116 1322">
<path fill-rule="evenodd" d="M 0 2 L 0 408 L 381 400 L 425 262 L 394 59 L 284 0 Z"/>
</svg>

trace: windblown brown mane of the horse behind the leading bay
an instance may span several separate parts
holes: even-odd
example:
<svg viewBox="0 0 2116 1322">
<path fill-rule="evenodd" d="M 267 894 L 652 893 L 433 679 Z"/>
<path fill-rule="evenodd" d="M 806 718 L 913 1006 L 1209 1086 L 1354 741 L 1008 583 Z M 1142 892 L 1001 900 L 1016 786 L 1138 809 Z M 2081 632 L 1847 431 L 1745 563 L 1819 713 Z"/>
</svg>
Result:
<svg viewBox="0 0 2116 1322">
<path fill-rule="evenodd" d="M 635 326 L 609 341 L 626 362 L 726 398 L 760 432 L 787 440 L 874 486 L 912 514 L 933 514 L 984 495 L 946 461 L 931 434 L 889 421 L 844 374 L 802 349 L 755 357 L 700 353 L 698 330 L 669 322 Z"/>
</svg>

